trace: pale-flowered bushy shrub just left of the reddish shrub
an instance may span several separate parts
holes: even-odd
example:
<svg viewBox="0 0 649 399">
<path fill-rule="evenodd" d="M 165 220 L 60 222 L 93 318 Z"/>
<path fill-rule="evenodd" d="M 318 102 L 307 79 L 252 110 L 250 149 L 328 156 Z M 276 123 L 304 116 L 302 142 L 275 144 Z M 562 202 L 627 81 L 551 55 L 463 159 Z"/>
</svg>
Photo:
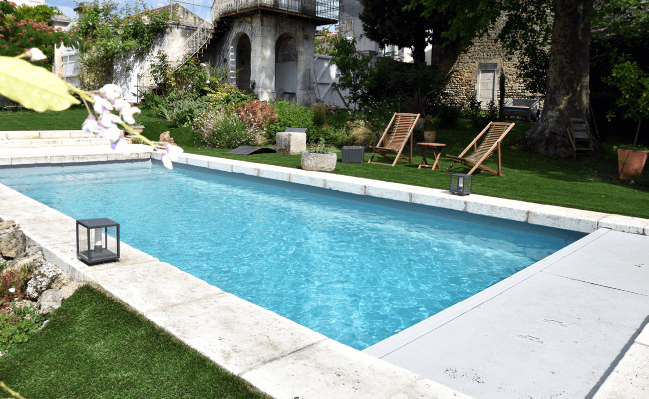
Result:
<svg viewBox="0 0 649 399">
<path fill-rule="evenodd" d="M 223 108 L 204 112 L 192 128 L 201 135 L 202 142 L 212 148 L 236 148 L 256 145 L 260 141 L 258 129 L 247 126 L 234 112 Z"/>
</svg>

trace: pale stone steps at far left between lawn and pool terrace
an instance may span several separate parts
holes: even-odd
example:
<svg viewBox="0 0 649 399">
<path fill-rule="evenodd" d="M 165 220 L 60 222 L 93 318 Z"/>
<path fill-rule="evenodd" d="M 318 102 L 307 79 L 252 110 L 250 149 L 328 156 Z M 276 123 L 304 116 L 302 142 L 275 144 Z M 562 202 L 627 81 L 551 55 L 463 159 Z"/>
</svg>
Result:
<svg viewBox="0 0 649 399">
<path fill-rule="evenodd" d="M 4 130 L 0 131 L 0 149 L 31 147 L 62 147 L 68 145 L 108 145 L 107 139 L 96 138 L 83 130 Z"/>
</svg>

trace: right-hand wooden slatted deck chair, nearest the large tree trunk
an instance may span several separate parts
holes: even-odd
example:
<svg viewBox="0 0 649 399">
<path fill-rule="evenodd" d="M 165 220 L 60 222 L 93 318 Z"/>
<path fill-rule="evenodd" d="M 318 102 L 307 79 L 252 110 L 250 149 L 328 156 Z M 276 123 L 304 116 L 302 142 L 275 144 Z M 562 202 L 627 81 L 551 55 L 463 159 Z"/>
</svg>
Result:
<svg viewBox="0 0 649 399">
<path fill-rule="evenodd" d="M 478 167 L 482 171 L 487 172 L 487 173 L 493 173 L 494 175 L 498 176 L 504 176 L 502 173 L 500 173 L 500 142 L 502 139 L 509 133 L 509 130 L 514 127 L 513 123 L 506 123 L 506 122 L 489 122 L 489 125 L 478 134 L 476 138 L 471 141 L 471 144 L 469 144 L 469 147 L 467 147 L 464 151 L 462 151 L 459 156 L 452 156 L 452 155 L 447 155 L 448 158 L 453 160 L 453 163 L 450 164 L 450 166 L 445 170 L 445 172 L 450 171 L 450 168 L 453 167 L 456 163 L 461 163 L 462 165 L 467 165 L 468 167 L 472 167 L 471 171 L 467 173 L 467 175 L 471 175 Z M 480 146 L 478 147 L 478 139 L 484 135 L 484 139 L 482 139 L 482 143 L 480 143 Z M 471 146 L 473 147 L 473 153 L 469 156 L 464 156 L 464 154 L 471 149 Z M 498 149 L 498 172 L 496 172 L 493 169 L 489 169 L 488 167 L 482 165 L 482 162 L 489 158 L 491 155 L 493 155 L 494 151 Z"/>
</svg>

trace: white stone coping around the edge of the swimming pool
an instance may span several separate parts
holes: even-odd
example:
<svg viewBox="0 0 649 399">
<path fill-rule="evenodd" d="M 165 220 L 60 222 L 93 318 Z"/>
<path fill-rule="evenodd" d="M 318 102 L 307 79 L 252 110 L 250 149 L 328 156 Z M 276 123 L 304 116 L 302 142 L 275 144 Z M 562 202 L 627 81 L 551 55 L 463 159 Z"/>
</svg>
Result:
<svg viewBox="0 0 649 399">
<path fill-rule="evenodd" d="M 54 155 L 52 158 L 48 155 L 37 158 L 0 156 L 0 165 L 43 166 L 48 163 L 146 158 L 160 161 L 160 153 L 146 150 L 127 156 L 75 154 L 66 156 L 65 160 L 61 157 L 62 154 L 56 155 L 56 158 Z M 649 235 L 648 219 L 480 195 L 457 197 L 441 189 L 195 154 L 184 154 L 179 162 L 579 232 L 589 233 L 604 227 Z M 355 397 L 373 398 L 414 398 L 422 395 L 435 398 L 469 397 L 224 293 L 124 243 L 123 258 L 119 263 L 88 267 L 75 259 L 75 243 L 62 238 L 75 236 L 73 219 L 2 185 L 0 204 L 0 219 L 15 219 L 31 243 L 42 245 L 45 257 L 55 261 L 69 276 L 100 285 L 190 347 L 270 396 L 336 397 L 347 393 Z M 9 210 L 11 214 L 7 213 Z M 201 313 L 199 308 L 210 311 Z M 207 320 L 208 315 L 214 317 L 214 310 L 217 310 L 220 319 Z M 241 314 L 245 314 L 245 320 L 236 319 Z M 233 346 L 223 348 L 228 341 Z M 252 358 L 248 356 L 251 353 L 254 354 Z M 622 362 L 619 366 L 622 366 Z"/>
</svg>

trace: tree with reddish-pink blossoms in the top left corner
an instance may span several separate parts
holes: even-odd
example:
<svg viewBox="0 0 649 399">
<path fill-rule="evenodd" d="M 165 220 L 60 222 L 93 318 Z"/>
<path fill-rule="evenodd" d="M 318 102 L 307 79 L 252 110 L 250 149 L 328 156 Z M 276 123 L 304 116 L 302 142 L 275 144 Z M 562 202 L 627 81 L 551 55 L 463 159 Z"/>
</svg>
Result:
<svg viewBox="0 0 649 399">
<path fill-rule="evenodd" d="M 21 6 L 18 11 L 15 3 L 0 1 L 0 55 L 17 56 L 24 53 L 25 49 L 36 47 L 47 59 L 34 61 L 34 65 L 51 69 L 56 46 L 79 47 L 77 34 L 64 32 L 62 29 L 55 30 L 47 25 L 45 21 L 52 16 L 49 13 L 56 9 L 44 7 Z M 36 8 L 37 10 L 34 10 Z M 38 18 L 36 21 L 31 18 L 24 19 L 32 14 Z M 47 19 L 40 21 L 40 18 L 45 16 Z"/>
</svg>

